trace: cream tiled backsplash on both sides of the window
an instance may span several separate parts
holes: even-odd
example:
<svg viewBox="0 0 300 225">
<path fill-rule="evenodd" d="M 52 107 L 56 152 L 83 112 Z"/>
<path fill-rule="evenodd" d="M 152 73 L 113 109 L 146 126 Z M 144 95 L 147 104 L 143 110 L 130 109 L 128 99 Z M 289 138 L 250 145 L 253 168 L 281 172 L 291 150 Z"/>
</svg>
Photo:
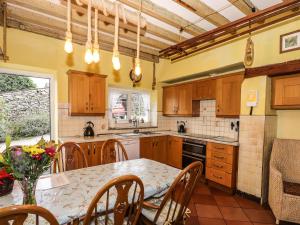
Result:
<svg viewBox="0 0 300 225">
<path fill-rule="evenodd" d="M 157 113 L 157 126 L 159 130 L 177 131 L 177 121 L 185 121 L 187 124 L 187 132 L 195 134 L 206 134 L 214 136 L 224 136 L 238 139 L 238 132 L 235 131 L 238 119 L 217 118 L 215 112 L 216 101 L 208 100 L 200 103 L 200 117 L 165 117 L 161 112 Z M 59 136 L 76 136 L 83 134 L 83 127 L 87 121 L 92 121 L 95 124 L 95 133 L 113 133 L 108 130 L 108 112 L 106 116 L 69 116 L 68 104 L 59 104 L 58 108 L 58 132 Z M 151 113 L 151 116 L 156 117 L 156 113 Z M 156 120 L 155 124 L 156 125 Z M 231 129 L 231 122 L 235 124 L 234 129 Z M 151 129 L 153 130 L 153 129 Z"/>
</svg>

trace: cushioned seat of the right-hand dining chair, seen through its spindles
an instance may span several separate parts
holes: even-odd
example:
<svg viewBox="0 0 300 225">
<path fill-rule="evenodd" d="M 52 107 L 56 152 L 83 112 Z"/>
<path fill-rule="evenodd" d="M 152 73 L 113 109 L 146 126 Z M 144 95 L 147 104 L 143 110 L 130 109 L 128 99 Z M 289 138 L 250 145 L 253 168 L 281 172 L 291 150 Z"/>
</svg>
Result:
<svg viewBox="0 0 300 225">
<path fill-rule="evenodd" d="M 152 203 L 154 205 L 160 205 L 161 202 L 163 201 L 163 199 L 164 199 L 164 196 L 161 197 L 161 198 L 152 198 L 150 200 L 147 200 L 147 202 L 150 202 L 150 203 Z M 165 220 L 166 220 L 167 215 L 168 215 L 169 206 L 170 206 L 170 201 L 165 205 L 165 207 L 163 208 L 160 216 L 158 217 L 158 219 L 156 221 L 157 225 L 163 225 L 163 224 L 165 224 Z M 173 212 L 174 208 L 175 208 L 175 204 L 172 205 L 172 209 L 170 211 Z M 175 212 L 176 215 L 174 216 L 174 218 L 177 217 L 177 213 L 178 213 L 179 209 L 180 209 L 180 205 L 178 204 L 176 212 Z M 154 221 L 154 217 L 156 215 L 156 212 L 157 212 L 156 209 L 143 208 L 142 215 L 144 217 L 146 217 L 148 220 L 150 220 L 151 222 L 153 222 Z M 172 217 L 172 215 L 169 215 L 169 218 L 171 218 L 171 217 Z"/>
</svg>

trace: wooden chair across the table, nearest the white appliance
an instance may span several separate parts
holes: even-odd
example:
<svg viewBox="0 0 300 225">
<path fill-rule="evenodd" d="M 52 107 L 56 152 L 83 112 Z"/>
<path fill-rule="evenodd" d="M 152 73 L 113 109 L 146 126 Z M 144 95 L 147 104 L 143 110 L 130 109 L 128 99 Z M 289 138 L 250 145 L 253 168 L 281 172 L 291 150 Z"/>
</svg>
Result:
<svg viewBox="0 0 300 225">
<path fill-rule="evenodd" d="M 122 143 L 116 139 L 105 141 L 101 148 L 101 164 L 128 160 L 126 150 Z"/>
</svg>

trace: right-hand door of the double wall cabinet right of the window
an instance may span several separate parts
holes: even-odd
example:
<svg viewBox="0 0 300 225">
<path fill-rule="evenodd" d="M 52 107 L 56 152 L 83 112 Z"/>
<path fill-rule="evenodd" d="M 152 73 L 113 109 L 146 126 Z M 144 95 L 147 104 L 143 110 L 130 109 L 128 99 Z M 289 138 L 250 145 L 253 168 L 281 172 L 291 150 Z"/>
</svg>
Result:
<svg viewBox="0 0 300 225">
<path fill-rule="evenodd" d="M 184 84 L 176 87 L 178 92 L 177 115 L 192 115 L 192 84 Z"/>
</svg>

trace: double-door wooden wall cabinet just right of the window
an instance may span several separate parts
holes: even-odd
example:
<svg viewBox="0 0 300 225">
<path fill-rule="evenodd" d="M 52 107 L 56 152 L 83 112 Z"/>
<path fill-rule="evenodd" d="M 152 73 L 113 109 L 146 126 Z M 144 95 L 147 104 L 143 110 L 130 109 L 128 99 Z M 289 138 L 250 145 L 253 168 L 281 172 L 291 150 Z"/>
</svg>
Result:
<svg viewBox="0 0 300 225">
<path fill-rule="evenodd" d="M 193 116 L 192 84 L 164 87 L 163 114 L 167 116 Z"/>
</svg>

